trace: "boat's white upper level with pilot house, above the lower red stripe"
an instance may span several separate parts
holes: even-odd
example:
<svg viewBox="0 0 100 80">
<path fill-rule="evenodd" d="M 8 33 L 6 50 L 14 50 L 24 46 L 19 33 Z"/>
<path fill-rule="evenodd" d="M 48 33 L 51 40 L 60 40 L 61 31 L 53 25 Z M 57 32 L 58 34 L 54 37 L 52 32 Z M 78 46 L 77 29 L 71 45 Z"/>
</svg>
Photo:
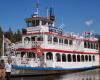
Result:
<svg viewBox="0 0 100 80">
<path fill-rule="evenodd" d="M 32 50 L 40 46 L 46 51 L 98 53 L 98 39 L 85 33 L 84 36 L 64 34 L 54 27 L 54 21 L 45 17 L 32 16 L 26 19 L 27 28 L 23 29 L 22 43 L 16 49 Z"/>
</svg>

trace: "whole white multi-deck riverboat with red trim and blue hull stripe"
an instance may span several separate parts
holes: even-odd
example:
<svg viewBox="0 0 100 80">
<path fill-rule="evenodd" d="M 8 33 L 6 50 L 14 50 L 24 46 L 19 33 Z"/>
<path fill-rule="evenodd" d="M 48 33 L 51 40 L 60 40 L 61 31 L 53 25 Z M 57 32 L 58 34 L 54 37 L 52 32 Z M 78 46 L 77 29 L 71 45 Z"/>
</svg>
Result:
<svg viewBox="0 0 100 80">
<path fill-rule="evenodd" d="M 63 74 L 95 69 L 100 65 L 98 39 L 91 32 L 82 36 L 55 27 L 55 16 L 35 12 L 25 19 L 22 41 L 15 43 L 11 57 L 15 76 Z"/>
</svg>

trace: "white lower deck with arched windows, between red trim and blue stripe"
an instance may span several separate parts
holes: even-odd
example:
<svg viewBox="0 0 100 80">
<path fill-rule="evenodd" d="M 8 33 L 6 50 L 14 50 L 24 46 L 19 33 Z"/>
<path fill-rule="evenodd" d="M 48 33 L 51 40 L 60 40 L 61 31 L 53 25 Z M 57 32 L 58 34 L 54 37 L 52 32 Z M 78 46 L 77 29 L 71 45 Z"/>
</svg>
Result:
<svg viewBox="0 0 100 80">
<path fill-rule="evenodd" d="M 43 68 L 84 68 L 100 65 L 99 54 L 44 52 L 17 52 L 12 57 L 14 65 Z"/>
</svg>

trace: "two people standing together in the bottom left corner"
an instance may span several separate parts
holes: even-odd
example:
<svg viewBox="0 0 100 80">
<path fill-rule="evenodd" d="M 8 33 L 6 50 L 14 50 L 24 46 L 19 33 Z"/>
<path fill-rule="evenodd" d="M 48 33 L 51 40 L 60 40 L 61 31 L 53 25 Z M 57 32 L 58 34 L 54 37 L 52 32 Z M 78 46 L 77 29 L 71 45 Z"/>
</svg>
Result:
<svg viewBox="0 0 100 80">
<path fill-rule="evenodd" d="M 11 69 L 12 69 L 12 60 L 8 59 L 6 62 L 0 60 L 0 80 L 10 80 Z"/>
</svg>

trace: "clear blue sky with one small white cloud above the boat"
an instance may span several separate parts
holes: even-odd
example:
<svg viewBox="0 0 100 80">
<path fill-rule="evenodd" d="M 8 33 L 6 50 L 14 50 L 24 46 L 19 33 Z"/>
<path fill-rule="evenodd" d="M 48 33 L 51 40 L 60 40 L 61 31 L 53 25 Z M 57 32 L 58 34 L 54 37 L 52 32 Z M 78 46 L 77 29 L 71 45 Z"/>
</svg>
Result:
<svg viewBox="0 0 100 80">
<path fill-rule="evenodd" d="M 0 0 L 0 26 L 4 31 L 26 28 L 25 19 L 36 11 L 38 0 Z M 39 0 L 39 15 L 54 8 L 55 26 L 64 32 L 100 34 L 100 0 Z"/>
</svg>

